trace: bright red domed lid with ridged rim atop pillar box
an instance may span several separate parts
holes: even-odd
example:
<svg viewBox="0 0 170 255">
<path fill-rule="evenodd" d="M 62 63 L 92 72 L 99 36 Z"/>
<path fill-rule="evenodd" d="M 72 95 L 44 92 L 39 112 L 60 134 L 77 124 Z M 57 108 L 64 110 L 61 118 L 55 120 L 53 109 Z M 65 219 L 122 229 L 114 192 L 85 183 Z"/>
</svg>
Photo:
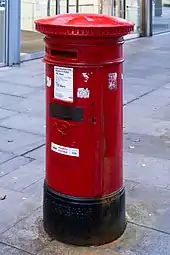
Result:
<svg viewBox="0 0 170 255">
<path fill-rule="evenodd" d="M 134 24 L 121 18 L 92 13 L 67 13 L 35 21 L 36 30 L 45 35 L 114 37 L 124 36 Z"/>
</svg>

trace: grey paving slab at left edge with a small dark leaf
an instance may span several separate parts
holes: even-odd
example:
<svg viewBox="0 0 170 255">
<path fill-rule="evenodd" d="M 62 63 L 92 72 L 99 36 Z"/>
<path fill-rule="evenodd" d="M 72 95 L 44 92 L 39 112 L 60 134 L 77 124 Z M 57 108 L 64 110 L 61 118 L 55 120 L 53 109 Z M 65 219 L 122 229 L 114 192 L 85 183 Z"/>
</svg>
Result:
<svg viewBox="0 0 170 255">
<path fill-rule="evenodd" d="M 0 234 L 42 205 L 39 197 L 0 187 Z M 4 242 L 5 243 L 5 242 Z"/>
</svg>

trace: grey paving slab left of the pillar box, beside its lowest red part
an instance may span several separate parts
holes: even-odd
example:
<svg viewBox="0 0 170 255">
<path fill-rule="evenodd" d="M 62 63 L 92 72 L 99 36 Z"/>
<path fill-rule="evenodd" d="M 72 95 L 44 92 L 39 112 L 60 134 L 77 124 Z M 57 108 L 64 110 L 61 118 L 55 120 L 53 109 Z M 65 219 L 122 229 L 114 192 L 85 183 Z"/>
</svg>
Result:
<svg viewBox="0 0 170 255">
<path fill-rule="evenodd" d="M 44 162 L 34 160 L 20 166 L 17 170 L 0 178 L 0 187 L 22 191 L 31 184 L 41 180 L 45 172 Z"/>
</svg>

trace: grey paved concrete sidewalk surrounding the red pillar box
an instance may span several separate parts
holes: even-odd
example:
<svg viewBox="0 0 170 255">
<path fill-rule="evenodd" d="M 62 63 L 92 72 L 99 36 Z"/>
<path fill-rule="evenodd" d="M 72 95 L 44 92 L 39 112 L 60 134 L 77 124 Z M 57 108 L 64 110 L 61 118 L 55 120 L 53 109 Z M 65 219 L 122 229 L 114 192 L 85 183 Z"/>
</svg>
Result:
<svg viewBox="0 0 170 255">
<path fill-rule="evenodd" d="M 164 34 L 125 45 L 128 226 L 101 247 L 72 247 L 44 233 L 44 67 L 35 60 L 0 69 L 0 254 L 170 255 L 169 42 Z"/>
</svg>

